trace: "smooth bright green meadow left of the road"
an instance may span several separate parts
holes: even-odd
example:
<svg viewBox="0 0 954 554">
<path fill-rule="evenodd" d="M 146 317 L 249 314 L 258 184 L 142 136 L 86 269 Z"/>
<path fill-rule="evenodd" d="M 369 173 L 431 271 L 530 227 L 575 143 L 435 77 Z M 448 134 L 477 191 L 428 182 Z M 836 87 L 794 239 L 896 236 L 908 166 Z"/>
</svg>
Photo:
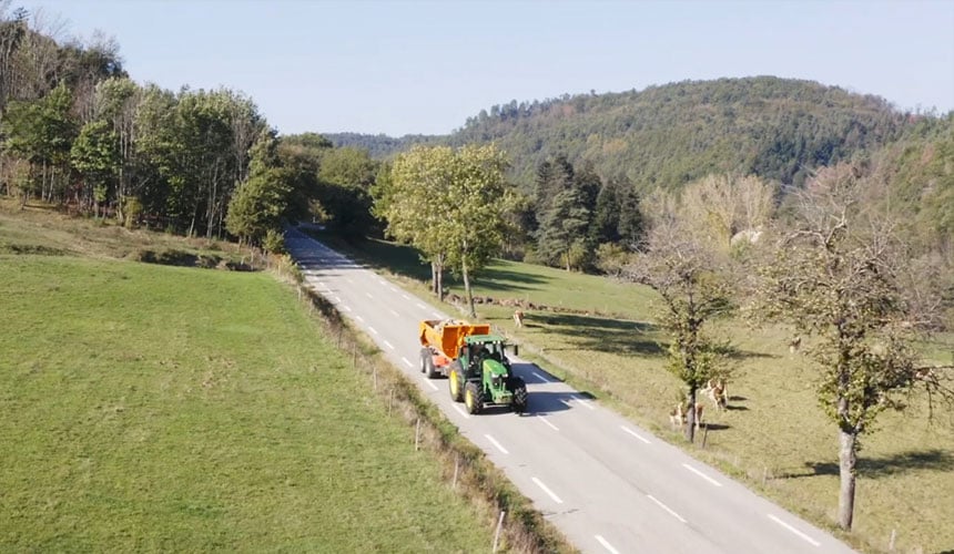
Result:
<svg viewBox="0 0 954 554">
<path fill-rule="evenodd" d="M 270 275 L 0 255 L 0 551 L 489 550 Z"/>
</svg>

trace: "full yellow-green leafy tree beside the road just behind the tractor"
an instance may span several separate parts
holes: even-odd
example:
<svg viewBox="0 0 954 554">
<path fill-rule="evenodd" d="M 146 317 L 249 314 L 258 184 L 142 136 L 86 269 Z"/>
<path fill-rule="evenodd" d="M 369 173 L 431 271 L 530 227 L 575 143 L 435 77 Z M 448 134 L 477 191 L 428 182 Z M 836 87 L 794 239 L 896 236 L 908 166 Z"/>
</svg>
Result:
<svg viewBox="0 0 954 554">
<path fill-rule="evenodd" d="M 394 161 L 390 179 L 374 188 L 386 232 L 432 261 L 438 297 L 445 267 L 460 274 L 470 316 L 470 277 L 496 254 L 506 230 L 507 163 L 494 145 L 415 146 Z"/>
</svg>

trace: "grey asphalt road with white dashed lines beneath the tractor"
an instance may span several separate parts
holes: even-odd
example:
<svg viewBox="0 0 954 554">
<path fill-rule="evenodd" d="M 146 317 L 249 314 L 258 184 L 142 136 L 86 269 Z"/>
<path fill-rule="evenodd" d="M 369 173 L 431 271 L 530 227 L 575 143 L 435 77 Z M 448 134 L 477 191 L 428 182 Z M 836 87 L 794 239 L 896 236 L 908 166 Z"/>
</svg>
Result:
<svg viewBox="0 0 954 554">
<path fill-rule="evenodd" d="M 522 360 L 514 370 L 527 382 L 527 414 L 467 414 L 450 400 L 446 379 L 419 371 L 418 322 L 448 314 L 297 230 L 286 244 L 307 284 L 374 339 L 582 552 L 852 552 Z"/>
</svg>

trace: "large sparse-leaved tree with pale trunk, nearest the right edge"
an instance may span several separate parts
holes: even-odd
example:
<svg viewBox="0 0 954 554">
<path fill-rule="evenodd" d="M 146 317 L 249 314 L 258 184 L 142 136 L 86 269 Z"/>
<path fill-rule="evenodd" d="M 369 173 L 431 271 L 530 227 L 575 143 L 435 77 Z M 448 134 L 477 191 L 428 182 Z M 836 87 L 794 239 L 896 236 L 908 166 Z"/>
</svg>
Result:
<svg viewBox="0 0 954 554">
<path fill-rule="evenodd" d="M 838 427 L 839 525 L 845 530 L 854 514 L 860 440 L 877 416 L 904 409 L 905 393 L 917 386 L 932 396 L 954 392 L 943 384 L 943 368 L 923 366 L 912 346 L 919 329 L 934 322 L 940 296 L 911 286 L 904 245 L 862 202 L 867 192 L 853 166 L 815 175 L 796 196 L 791 228 L 779 229 L 773 255 L 759 268 L 752 310 L 812 338 L 805 351 L 820 372 L 818 399 Z"/>
</svg>

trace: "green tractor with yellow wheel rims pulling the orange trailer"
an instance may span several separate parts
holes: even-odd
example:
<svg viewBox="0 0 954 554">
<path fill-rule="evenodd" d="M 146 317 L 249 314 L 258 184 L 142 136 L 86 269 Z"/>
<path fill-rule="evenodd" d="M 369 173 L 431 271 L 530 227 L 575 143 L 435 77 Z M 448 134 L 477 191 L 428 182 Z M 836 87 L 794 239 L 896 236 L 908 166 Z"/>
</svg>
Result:
<svg viewBox="0 0 954 554">
<path fill-rule="evenodd" d="M 500 336 L 471 335 L 450 363 L 450 398 L 463 401 L 469 413 L 480 413 L 487 404 L 509 406 L 517 413 L 527 411 L 527 384 L 510 370 L 504 347 Z M 517 347 L 512 349 L 516 356 Z"/>
</svg>

